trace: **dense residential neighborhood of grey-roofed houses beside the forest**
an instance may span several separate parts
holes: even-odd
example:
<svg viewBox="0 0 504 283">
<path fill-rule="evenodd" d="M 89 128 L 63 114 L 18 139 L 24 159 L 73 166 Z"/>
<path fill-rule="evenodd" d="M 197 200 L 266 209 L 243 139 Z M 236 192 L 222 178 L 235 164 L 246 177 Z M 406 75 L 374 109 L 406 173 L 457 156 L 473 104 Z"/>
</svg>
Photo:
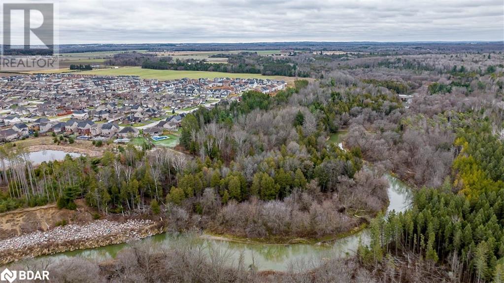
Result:
<svg viewBox="0 0 504 283">
<path fill-rule="evenodd" d="M 37 74 L 0 77 L 0 140 L 34 132 L 90 138 L 151 136 L 176 131 L 185 114 L 239 99 L 248 90 L 274 93 L 270 79 L 177 79 Z"/>
</svg>

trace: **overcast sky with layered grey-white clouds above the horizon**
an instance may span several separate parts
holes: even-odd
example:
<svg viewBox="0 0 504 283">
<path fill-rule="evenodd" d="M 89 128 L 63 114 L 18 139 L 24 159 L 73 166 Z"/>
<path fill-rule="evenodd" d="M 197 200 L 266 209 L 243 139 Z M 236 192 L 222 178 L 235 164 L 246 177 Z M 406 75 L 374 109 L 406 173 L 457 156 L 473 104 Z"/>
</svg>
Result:
<svg viewBox="0 0 504 283">
<path fill-rule="evenodd" d="M 60 44 L 504 40 L 504 0 L 58 3 Z"/>
</svg>

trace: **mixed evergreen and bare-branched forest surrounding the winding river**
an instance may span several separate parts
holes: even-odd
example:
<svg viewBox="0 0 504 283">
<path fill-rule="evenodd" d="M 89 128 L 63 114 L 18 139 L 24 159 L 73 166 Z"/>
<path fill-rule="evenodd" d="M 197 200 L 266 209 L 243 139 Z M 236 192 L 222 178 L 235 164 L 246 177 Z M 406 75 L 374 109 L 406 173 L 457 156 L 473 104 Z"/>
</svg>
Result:
<svg viewBox="0 0 504 283">
<path fill-rule="evenodd" d="M 2 164 L 0 182 L 9 190 L 0 210 L 47 202 L 73 208 L 84 197 L 104 214 L 162 213 L 169 231 L 276 242 L 362 224 L 370 231 L 355 256 L 293 263 L 286 272 L 225 265 L 225 255 L 188 246 L 147 245 L 107 268 L 83 259 L 53 263 L 61 280 L 70 275 L 58 270 L 82 266 L 101 268 L 109 281 L 121 280 L 117 270 L 144 281 L 155 281 L 153 274 L 164 281 L 504 281 L 502 52 L 299 53 L 290 60 L 317 80 L 198 109 L 182 121 L 178 152 L 125 146 L 35 167 L 23 149 L 4 146 L 10 165 Z M 328 142 L 341 130 L 343 148 Z M 406 212 L 384 215 L 385 173 L 410 185 Z"/>
</svg>

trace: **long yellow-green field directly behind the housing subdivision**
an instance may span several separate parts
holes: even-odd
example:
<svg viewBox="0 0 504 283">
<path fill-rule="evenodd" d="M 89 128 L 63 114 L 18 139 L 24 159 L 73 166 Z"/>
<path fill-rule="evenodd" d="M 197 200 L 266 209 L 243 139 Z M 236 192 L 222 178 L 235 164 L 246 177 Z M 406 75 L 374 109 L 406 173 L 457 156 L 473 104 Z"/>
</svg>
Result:
<svg viewBox="0 0 504 283">
<path fill-rule="evenodd" d="M 140 67 L 124 67 L 118 69 L 100 69 L 79 72 L 82 75 L 102 75 L 102 76 L 140 76 L 143 79 L 174 80 L 174 79 L 199 79 L 199 78 L 243 78 L 243 79 L 281 79 L 282 76 L 263 76 L 260 74 L 222 73 L 205 71 L 173 71 L 173 70 L 152 70 Z"/>
</svg>

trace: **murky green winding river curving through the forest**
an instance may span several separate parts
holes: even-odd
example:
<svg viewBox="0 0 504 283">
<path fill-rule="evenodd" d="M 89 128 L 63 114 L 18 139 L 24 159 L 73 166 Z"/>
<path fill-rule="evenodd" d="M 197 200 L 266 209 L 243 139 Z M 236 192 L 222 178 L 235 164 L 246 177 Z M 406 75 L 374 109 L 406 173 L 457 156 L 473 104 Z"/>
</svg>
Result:
<svg viewBox="0 0 504 283">
<path fill-rule="evenodd" d="M 331 142 L 339 142 L 337 137 Z M 342 146 L 341 144 L 339 144 Z M 386 175 L 389 180 L 389 200 L 390 204 L 387 212 L 395 210 L 396 212 L 405 211 L 411 202 L 411 194 L 409 188 L 397 178 Z M 151 236 L 136 243 L 153 243 L 160 246 L 168 246 L 173 244 L 187 243 L 190 237 L 185 235 L 175 236 L 169 233 L 163 233 Z M 208 238 L 191 238 L 193 245 L 201 245 L 205 252 L 218 252 L 229 259 L 229 263 L 236 263 L 242 256 L 245 266 L 254 264 L 259 270 L 286 270 L 291 264 L 299 263 L 300 267 L 309 268 L 310 260 L 316 262 L 322 258 L 330 257 L 345 257 L 355 254 L 359 240 L 363 244 L 369 243 L 369 232 L 364 229 L 351 236 L 335 240 L 325 244 L 293 244 L 293 245 L 277 245 L 277 244 L 257 244 L 257 243 L 237 243 L 232 241 L 208 239 Z M 65 257 L 80 256 L 85 258 L 93 258 L 98 260 L 106 260 L 113 258 L 122 249 L 128 248 L 130 244 L 118 244 L 100 248 L 76 250 L 71 252 L 57 253 L 44 257 L 62 259 Z"/>
</svg>

